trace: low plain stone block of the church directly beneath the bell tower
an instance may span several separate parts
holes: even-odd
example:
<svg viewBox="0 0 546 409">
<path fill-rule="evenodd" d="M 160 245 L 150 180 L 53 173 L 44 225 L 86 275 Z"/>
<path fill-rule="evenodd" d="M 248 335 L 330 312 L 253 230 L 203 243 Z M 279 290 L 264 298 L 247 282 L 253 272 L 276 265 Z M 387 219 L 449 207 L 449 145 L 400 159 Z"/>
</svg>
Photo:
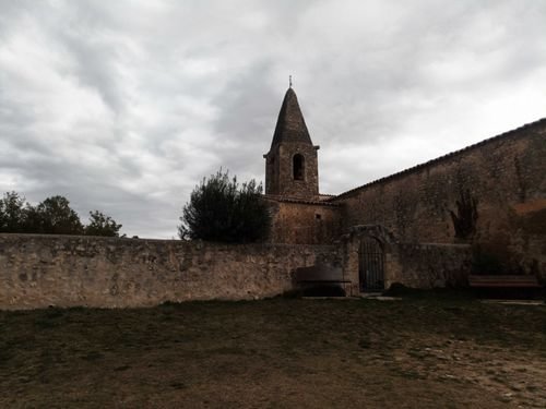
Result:
<svg viewBox="0 0 546 409">
<path fill-rule="evenodd" d="M 341 232 L 340 207 L 265 196 L 272 214 L 272 243 L 330 244 Z"/>
</svg>

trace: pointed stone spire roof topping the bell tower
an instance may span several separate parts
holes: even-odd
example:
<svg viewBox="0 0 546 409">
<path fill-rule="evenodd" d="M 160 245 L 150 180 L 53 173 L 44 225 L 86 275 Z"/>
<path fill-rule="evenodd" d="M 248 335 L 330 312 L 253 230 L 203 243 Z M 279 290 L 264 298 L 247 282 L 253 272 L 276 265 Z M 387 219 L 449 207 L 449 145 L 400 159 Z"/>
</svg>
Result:
<svg viewBox="0 0 546 409">
<path fill-rule="evenodd" d="M 292 88 L 292 84 L 284 96 L 283 105 L 278 112 L 271 147 L 282 142 L 299 142 L 312 145 L 306 121 L 301 109 L 299 109 L 298 97 Z"/>
</svg>

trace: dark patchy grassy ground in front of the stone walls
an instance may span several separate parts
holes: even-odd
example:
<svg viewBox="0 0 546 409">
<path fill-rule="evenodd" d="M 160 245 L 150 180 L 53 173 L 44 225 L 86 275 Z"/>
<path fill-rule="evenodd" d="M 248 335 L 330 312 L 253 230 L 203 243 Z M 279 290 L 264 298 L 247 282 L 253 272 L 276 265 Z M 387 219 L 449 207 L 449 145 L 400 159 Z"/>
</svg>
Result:
<svg viewBox="0 0 546 409">
<path fill-rule="evenodd" d="M 1 408 L 544 408 L 546 306 L 199 302 L 0 312 Z"/>
</svg>

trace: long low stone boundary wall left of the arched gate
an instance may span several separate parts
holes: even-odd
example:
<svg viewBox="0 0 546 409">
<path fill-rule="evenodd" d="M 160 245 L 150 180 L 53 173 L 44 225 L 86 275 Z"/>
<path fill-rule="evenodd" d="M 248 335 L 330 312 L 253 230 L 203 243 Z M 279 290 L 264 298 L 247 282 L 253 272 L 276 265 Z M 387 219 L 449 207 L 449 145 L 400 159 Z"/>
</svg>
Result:
<svg viewBox="0 0 546 409">
<path fill-rule="evenodd" d="M 293 288 L 297 267 L 334 246 L 0 234 L 0 309 L 134 308 L 248 300 Z"/>
</svg>

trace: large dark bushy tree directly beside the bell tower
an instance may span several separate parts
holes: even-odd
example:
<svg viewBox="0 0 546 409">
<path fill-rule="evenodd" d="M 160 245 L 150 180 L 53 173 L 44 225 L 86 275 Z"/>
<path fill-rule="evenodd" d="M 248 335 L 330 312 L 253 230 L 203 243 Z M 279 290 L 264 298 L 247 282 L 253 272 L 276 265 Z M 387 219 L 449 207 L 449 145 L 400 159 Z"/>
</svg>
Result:
<svg viewBox="0 0 546 409">
<path fill-rule="evenodd" d="M 262 185 L 256 180 L 239 185 L 222 169 L 191 192 L 182 208 L 181 239 L 221 242 L 254 242 L 263 240 L 270 229 L 271 216 L 261 197 Z"/>
</svg>

